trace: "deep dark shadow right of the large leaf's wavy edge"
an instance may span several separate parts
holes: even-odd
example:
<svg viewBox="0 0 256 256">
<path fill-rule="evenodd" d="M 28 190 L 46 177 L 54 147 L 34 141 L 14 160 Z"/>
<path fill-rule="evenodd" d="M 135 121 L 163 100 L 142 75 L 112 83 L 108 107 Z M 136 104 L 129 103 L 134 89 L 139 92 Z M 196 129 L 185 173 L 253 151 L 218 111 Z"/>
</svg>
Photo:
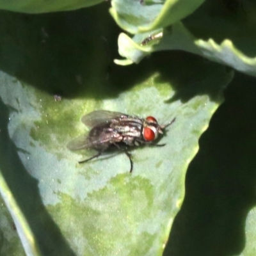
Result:
<svg viewBox="0 0 256 256">
<path fill-rule="evenodd" d="M 245 246 L 256 205 L 255 78 L 236 74 L 225 98 L 189 166 L 165 256 L 232 256 Z"/>
</svg>

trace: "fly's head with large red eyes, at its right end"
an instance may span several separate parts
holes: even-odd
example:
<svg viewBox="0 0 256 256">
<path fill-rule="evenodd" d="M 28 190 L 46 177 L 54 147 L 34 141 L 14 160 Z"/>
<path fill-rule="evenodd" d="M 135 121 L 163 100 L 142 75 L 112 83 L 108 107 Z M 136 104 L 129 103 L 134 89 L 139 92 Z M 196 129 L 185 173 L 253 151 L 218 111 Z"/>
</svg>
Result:
<svg viewBox="0 0 256 256">
<path fill-rule="evenodd" d="M 144 140 L 148 142 L 156 140 L 158 135 L 163 134 L 164 129 L 171 125 L 174 121 L 175 118 L 173 118 L 173 120 L 167 125 L 159 125 L 156 118 L 153 116 L 148 116 L 143 122 L 142 135 Z"/>
</svg>

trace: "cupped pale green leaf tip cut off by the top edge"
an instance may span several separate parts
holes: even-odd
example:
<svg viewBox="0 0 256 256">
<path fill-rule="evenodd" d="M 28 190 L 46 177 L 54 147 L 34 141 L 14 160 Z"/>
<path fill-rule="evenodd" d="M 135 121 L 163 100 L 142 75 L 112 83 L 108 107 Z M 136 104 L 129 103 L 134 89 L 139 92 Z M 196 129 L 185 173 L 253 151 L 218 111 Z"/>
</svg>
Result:
<svg viewBox="0 0 256 256">
<path fill-rule="evenodd" d="M 122 29 L 138 34 L 170 26 L 193 13 L 202 3 L 204 0 L 112 0 L 109 12 Z"/>
</svg>

